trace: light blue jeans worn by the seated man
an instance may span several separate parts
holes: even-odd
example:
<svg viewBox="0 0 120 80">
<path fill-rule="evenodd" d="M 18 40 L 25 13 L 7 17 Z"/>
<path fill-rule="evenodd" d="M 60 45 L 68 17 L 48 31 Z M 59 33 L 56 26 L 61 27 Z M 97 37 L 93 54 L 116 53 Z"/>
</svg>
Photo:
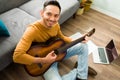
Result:
<svg viewBox="0 0 120 80">
<path fill-rule="evenodd" d="M 88 46 L 85 43 L 78 43 L 67 50 L 64 59 L 78 55 L 78 66 L 71 70 L 68 74 L 60 76 L 58 72 L 58 62 L 55 62 L 44 73 L 45 80 L 76 80 L 76 77 L 87 79 L 88 77 Z"/>
</svg>

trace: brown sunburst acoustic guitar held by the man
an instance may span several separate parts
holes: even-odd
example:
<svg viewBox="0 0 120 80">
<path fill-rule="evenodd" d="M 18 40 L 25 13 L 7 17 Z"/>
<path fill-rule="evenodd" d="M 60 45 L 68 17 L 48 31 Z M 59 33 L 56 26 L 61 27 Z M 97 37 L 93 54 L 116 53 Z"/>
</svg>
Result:
<svg viewBox="0 0 120 80">
<path fill-rule="evenodd" d="M 86 33 L 82 37 L 80 37 L 68 44 L 65 44 L 65 42 L 62 39 L 56 39 L 55 41 L 53 41 L 52 43 L 50 43 L 48 45 L 40 45 L 40 44 L 34 45 L 34 46 L 30 47 L 30 49 L 27 51 L 27 53 L 34 57 L 45 57 L 48 53 L 50 53 L 51 51 L 54 51 L 55 54 L 57 54 L 57 58 L 56 58 L 55 62 L 59 62 L 59 61 L 63 60 L 63 58 L 65 57 L 66 50 L 68 48 L 83 41 L 86 36 L 89 37 L 94 32 L 95 32 L 95 28 L 90 30 L 88 33 Z M 31 65 L 24 65 L 24 68 L 27 71 L 27 73 L 30 74 L 31 76 L 40 76 L 40 75 L 43 75 L 53 63 L 50 63 L 50 64 L 49 63 L 47 63 L 47 64 L 40 64 L 40 63 L 35 64 L 34 63 Z"/>
</svg>

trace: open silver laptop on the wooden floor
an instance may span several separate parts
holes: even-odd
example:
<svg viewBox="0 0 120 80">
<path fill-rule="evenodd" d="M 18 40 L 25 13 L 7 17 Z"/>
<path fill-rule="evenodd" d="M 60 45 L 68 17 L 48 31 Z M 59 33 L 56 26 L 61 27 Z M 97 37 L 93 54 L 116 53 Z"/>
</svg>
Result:
<svg viewBox="0 0 120 80">
<path fill-rule="evenodd" d="M 93 51 L 94 63 L 110 64 L 117 57 L 118 53 L 113 40 L 110 40 L 105 47 L 97 46 L 97 48 Z"/>
</svg>

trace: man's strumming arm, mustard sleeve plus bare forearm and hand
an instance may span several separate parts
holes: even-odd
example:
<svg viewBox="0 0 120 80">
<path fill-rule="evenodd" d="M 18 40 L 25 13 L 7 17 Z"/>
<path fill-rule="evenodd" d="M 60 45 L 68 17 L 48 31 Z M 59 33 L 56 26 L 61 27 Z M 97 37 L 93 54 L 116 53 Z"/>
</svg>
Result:
<svg viewBox="0 0 120 80">
<path fill-rule="evenodd" d="M 32 64 L 32 63 L 52 63 L 56 59 L 54 52 L 50 52 L 46 57 L 35 57 L 27 53 L 31 47 L 32 42 L 36 37 L 36 31 L 33 28 L 27 28 L 23 37 L 16 46 L 13 54 L 13 61 L 21 64 Z"/>
</svg>

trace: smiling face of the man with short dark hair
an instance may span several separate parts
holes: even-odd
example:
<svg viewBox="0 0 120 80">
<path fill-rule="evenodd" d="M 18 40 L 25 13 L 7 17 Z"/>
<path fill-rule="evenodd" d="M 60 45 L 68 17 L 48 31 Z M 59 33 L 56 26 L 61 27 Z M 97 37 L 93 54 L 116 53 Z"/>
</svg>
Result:
<svg viewBox="0 0 120 80">
<path fill-rule="evenodd" d="M 43 24 L 47 28 L 51 28 L 56 24 L 60 17 L 60 10 L 57 6 L 48 5 L 41 13 Z"/>
</svg>

